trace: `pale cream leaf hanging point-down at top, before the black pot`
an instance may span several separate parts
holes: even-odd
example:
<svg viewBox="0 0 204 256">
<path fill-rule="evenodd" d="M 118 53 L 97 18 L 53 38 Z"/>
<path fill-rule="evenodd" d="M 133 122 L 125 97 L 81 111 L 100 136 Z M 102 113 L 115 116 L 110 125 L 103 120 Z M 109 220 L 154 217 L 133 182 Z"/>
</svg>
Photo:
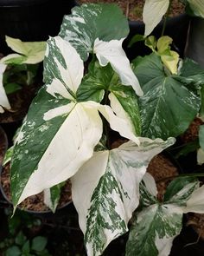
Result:
<svg viewBox="0 0 204 256">
<path fill-rule="evenodd" d="M 150 35 L 156 25 L 160 23 L 169 8 L 169 0 L 145 0 L 143 6 L 144 36 Z"/>
</svg>

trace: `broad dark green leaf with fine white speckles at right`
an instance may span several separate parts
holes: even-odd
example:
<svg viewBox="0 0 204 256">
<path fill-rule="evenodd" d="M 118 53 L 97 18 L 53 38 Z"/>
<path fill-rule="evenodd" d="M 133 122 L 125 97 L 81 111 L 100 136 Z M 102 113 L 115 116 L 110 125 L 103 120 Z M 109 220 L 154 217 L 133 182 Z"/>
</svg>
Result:
<svg viewBox="0 0 204 256">
<path fill-rule="evenodd" d="M 155 53 L 139 57 L 133 63 L 144 92 L 138 98 L 143 136 L 164 140 L 169 136 L 181 135 L 201 106 L 198 79 L 182 73 L 186 62 L 183 62 L 180 75 L 166 75 L 163 63 Z M 194 69 L 194 64 L 191 64 Z M 189 84 L 188 76 L 191 80 Z"/>
</svg>

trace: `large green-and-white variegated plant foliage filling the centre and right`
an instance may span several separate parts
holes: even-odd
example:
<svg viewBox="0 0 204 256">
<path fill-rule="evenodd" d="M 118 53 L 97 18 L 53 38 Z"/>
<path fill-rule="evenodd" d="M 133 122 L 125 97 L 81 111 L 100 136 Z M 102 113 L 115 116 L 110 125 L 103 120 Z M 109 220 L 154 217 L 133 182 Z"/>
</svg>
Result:
<svg viewBox="0 0 204 256">
<path fill-rule="evenodd" d="M 45 191 L 54 209 L 53 187 L 71 179 L 88 255 L 101 255 L 129 220 L 127 255 L 169 255 L 183 213 L 204 213 L 204 187 L 198 174 L 179 175 L 158 200 L 145 173 L 200 113 L 204 71 L 180 60 L 169 36 L 148 38 L 153 53 L 130 64 L 122 49 L 128 32 L 116 5 L 85 4 L 64 16 L 47 42 L 45 85 L 14 145 L 12 202 L 15 211 Z"/>
</svg>

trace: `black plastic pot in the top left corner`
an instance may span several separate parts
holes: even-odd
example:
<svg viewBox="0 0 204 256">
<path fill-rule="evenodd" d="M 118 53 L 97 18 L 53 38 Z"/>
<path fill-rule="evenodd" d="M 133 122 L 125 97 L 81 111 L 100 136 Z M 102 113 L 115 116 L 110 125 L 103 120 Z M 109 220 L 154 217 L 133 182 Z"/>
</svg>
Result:
<svg viewBox="0 0 204 256">
<path fill-rule="evenodd" d="M 45 41 L 57 36 L 62 18 L 74 0 L 0 0 L 0 52 L 10 53 L 5 35 L 22 41 Z"/>
</svg>

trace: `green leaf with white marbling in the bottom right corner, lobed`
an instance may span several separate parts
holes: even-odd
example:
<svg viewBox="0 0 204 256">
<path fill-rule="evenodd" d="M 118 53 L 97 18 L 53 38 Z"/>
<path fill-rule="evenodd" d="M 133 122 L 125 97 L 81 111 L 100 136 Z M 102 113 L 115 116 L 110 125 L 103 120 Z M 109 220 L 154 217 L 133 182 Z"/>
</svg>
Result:
<svg viewBox="0 0 204 256">
<path fill-rule="evenodd" d="M 178 177 L 171 181 L 160 202 L 156 189 L 152 189 L 156 187 L 154 179 L 145 174 L 140 183 L 142 209 L 134 215 L 126 256 L 168 256 L 175 236 L 182 230 L 182 214 L 198 186 L 194 178 Z"/>
</svg>

